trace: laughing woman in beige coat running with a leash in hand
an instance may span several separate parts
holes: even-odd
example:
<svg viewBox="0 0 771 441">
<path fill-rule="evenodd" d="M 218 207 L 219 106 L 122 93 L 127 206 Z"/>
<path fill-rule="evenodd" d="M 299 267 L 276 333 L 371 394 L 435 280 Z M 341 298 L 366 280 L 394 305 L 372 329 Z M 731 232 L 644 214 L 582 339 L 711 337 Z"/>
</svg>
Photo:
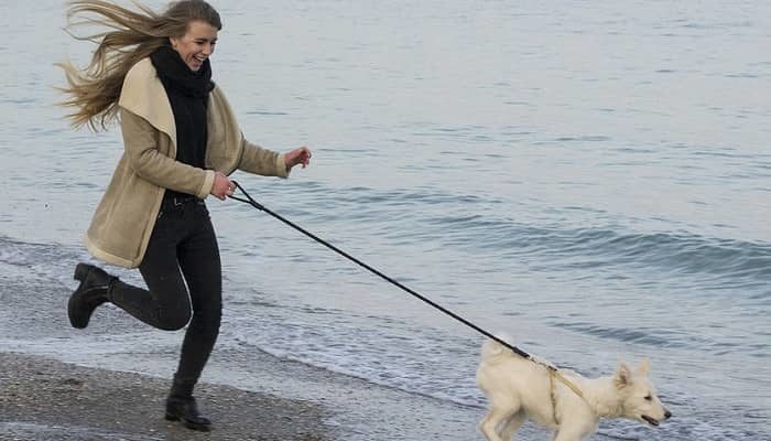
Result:
<svg viewBox="0 0 771 441">
<path fill-rule="evenodd" d="M 73 326 L 112 302 L 161 330 L 187 331 L 169 397 L 166 419 L 208 431 L 193 388 L 214 347 L 221 314 L 217 239 L 204 200 L 234 192 L 236 169 L 286 178 L 311 159 L 307 148 L 285 154 L 243 139 L 222 92 L 211 83 L 209 56 L 219 14 L 200 0 L 173 2 L 156 13 L 99 0 L 70 3 L 68 18 L 109 29 L 76 36 L 98 42 L 85 71 L 62 64 L 74 126 L 96 129 L 119 119 L 124 152 L 86 234 L 88 250 L 107 263 L 139 268 L 148 290 L 79 263 L 68 303 Z"/>
</svg>

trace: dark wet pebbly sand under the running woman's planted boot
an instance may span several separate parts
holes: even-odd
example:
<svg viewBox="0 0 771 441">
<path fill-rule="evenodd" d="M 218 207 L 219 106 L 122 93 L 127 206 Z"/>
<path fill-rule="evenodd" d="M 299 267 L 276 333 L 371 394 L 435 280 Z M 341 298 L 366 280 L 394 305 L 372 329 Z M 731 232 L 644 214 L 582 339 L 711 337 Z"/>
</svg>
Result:
<svg viewBox="0 0 771 441">
<path fill-rule="evenodd" d="M 325 409 L 202 384 L 213 420 L 200 433 L 163 419 L 169 384 L 159 378 L 0 353 L 0 440 L 330 440 Z"/>
</svg>

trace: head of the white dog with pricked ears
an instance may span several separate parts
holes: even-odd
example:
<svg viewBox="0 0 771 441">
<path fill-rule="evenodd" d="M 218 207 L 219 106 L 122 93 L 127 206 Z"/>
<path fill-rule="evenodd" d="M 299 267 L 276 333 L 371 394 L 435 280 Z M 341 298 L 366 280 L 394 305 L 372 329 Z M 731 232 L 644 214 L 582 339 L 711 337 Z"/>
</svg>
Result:
<svg viewBox="0 0 771 441">
<path fill-rule="evenodd" d="M 655 388 L 648 378 L 649 369 L 650 362 L 647 359 L 634 370 L 621 363 L 613 376 L 613 383 L 622 400 L 622 417 L 659 426 L 672 417 L 672 413 L 659 400 Z"/>
</svg>

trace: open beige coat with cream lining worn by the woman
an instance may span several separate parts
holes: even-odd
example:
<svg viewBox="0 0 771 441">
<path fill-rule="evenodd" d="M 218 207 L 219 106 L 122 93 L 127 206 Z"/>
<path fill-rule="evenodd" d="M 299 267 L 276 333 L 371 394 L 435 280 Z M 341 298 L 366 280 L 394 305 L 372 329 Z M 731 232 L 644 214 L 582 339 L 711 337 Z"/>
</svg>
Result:
<svg viewBox="0 0 771 441">
<path fill-rule="evenodd" d="M 108 263 L 135 268 L 142 262 L 165 189 L 205 198 L 215 171 L 289 175 L 283 154 L 243 139 L 218 87 L 208 101 L 207 170 L 175 161 L 174 114 L 150 58 L 129 71 L 118 105 L 124 151 L 85 238 L 94 257 Z"/>
</svg>

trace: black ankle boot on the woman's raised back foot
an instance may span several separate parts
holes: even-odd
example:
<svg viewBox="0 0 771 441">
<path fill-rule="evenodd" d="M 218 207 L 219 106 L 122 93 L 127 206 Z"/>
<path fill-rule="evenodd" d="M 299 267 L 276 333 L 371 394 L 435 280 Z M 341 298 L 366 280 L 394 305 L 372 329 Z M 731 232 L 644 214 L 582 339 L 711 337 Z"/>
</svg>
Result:
<svg viewBox="0 0 771 441">
<path fill-rule="evenodd" d="M 73 327 L 88 326 L 94 310 L 109 301 L 110 288 L 117 277 L 112 277 L 93 265 L 78 263 L 75 267 L 75 279 L 80 281 L 67 303 L 67 315 Z"/>
</svg>

